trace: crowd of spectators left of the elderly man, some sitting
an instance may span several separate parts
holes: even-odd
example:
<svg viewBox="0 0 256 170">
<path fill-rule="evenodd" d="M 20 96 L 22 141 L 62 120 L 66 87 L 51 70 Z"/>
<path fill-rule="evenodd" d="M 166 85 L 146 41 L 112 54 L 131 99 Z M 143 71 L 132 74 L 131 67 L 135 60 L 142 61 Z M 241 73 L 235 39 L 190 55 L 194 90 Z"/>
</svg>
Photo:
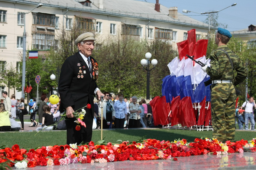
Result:
<svg viewBox="0 0 256 170">
<path fill-rule="evenodd" d="M 42 102 L 37 106 L 36 99 L 30 99 L 28 103 L 29 111 L 24 103 L 24 98 L 15 99 L 12 94 L 8 97 L 7 92 L 2 93 L 5 100 L 1 100 L 0 105 L 0 131 L 19 131 L 24 130 L 24 115 L 30 114 L 31 124 L 28 127 L 36 127 L 36 130 L 66 129 L 65 121 L 61 121 L 58 127 L 49 126 L 53 122 L 60 121 L 59 103 L 52 104 L 45 94 L 41 96 Z M 27 113 L 26 113 L 27 111 Z M 36 122 L 38 114 L 38 122 Z M 20 119 L 20 124 L 15 119 Z M 49 126 L 49 127 L 48 127 Z"/>
</svg>

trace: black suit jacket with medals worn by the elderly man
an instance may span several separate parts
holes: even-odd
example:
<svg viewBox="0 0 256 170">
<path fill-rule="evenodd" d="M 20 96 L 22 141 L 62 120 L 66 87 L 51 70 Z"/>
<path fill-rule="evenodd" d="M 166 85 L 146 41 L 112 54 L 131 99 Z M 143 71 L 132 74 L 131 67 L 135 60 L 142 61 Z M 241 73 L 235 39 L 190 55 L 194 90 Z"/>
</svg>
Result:
<svg viewBox="0 0 256 170">
<path fill-rule="evenodd" d="M 96 62 L 91 56 L 90 59 L 91 63 L 92 60 Z M 80 66 L 78 66 L 79 64 Z M 81 67 L 84 78 L 77 78 L 79 67 Z M 63 112 L 68 106 L 73 107 L 74 111 L 76 111 L 90 103 L 92 105 L 92 113 L 94 113 L 93 98 L 94 90 L 97 87 L 96 79 L 91 78 L 89 68 L 79 52 L 69 56 L 60 71 L 58 86 L 61 98 L 60 112 Z"/>
</svg>

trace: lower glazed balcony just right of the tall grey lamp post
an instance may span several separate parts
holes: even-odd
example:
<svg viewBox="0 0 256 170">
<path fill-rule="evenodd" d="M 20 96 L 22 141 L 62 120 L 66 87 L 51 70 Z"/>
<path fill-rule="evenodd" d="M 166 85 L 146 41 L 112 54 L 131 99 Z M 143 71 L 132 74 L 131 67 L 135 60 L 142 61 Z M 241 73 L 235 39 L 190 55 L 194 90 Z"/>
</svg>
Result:
<svg viewBox="0 0 256 170">
<path fill-rule="evenodd" d="M 50 49 L 54 47 L 54 35 L 48 34 L 32 34 L 32 44 L 36 49 Z"/>
</svg>

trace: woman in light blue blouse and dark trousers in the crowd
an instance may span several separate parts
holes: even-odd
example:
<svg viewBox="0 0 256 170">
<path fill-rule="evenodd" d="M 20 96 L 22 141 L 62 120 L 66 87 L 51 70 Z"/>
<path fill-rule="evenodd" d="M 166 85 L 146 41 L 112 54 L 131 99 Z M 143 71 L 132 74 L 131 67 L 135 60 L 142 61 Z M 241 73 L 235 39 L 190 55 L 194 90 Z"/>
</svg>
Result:
<svg viewBox="0 0 256 170">
<path fill-rule="evenodd" d="M 120 93 L 118 98 L 119 100 L 114 103 L 116 115 L 113 119 L 115 120 L 115 128 L 124 128 L 124 121 L 127 119 L 127 108 L 126 103 L 123 101 L 124 95 Z"/>
</svg>

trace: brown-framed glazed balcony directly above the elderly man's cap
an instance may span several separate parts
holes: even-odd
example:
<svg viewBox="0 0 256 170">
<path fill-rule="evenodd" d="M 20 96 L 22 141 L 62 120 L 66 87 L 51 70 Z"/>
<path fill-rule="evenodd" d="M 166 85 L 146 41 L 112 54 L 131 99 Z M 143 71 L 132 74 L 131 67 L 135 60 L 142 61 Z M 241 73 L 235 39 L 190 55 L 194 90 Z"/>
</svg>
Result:
<svg viewBox="0 0 256 170">
<path fill-rule="evenodd" d="M 95 31 L 95 19 L 76 17 L 76 26 L 80 29 Z"/>
</svg>

